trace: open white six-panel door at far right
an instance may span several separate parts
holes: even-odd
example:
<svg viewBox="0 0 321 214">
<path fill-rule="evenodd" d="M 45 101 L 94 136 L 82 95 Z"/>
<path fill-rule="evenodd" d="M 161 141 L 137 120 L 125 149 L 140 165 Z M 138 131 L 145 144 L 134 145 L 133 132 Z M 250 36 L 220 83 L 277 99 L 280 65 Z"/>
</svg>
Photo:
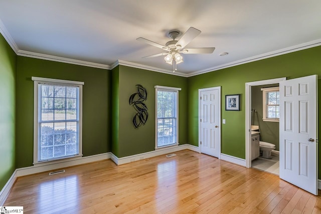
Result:
<svg viewBox="0 0 321 214">
<path fill-rule="evenodd" d="M 317 76 L 280 82 L 280 178 L 317 195 Z"/>
</svg>

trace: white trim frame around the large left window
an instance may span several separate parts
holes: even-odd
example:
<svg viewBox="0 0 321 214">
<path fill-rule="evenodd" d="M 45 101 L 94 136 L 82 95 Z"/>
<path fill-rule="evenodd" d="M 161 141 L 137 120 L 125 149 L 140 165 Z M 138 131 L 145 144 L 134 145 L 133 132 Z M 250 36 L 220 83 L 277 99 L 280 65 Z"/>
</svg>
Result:
<svg viewBox="0 0 321 214">
<path fill-rule="evenodd" d="M 59 80 L 59 79 L 50 79 L 42 77 L 32 77 L 31 80 L 34 81 L 34 162 L 33 164 L 42 164 L 45 162 L 59 162 L 61 159 L 77 159 L 82 155 L 82 86 L 84 82 L 71 81 L 71 80 Z M 60 85 L 69 85 L 79 87 L 79 154 L 73 156 L 66 156 L 60 158 L 54 158 L 50 160 L 38 161 L 38 140 L 39 140 L 39 125 L 38 125 L 38 114 L 39 114 L 39 105 L 38 105 L 38 84 L 39 83 L 51 83 L 51 84 L 60 84 Z"/>
</svg>

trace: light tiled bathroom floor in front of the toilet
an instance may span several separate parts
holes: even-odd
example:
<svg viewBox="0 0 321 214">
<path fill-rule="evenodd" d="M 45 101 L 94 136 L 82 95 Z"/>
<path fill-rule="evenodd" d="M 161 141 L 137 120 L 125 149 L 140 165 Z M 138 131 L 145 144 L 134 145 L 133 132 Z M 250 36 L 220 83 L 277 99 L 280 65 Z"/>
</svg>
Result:
<svg viewBox="0 0 321 214">
<path fill-rule="evenodd" d="M 271 159 L 258 157 L 252 160 L 252 168 L 279 175 L 279 156 L 272 155 Z"/>
</svg>

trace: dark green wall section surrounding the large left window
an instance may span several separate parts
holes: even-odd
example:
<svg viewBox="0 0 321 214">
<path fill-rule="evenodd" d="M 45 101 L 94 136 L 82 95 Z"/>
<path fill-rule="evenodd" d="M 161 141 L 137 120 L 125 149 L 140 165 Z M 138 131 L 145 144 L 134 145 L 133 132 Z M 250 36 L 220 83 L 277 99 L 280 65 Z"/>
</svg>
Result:
<svg viewBox="0 0 321 214">
<path fill-rule="evenodd" d="M 16 168 L 33 164 L 33 76 L 84 82 L 83 155 L 110 151 L 110 71 L 18 56 Z"/>
</svg>

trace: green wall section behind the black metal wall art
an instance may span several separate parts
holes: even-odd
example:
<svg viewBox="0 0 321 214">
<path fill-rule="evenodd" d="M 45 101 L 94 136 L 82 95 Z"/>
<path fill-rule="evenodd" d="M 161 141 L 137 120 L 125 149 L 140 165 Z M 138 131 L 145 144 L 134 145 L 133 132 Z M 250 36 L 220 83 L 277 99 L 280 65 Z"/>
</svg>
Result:
<svg viewBox="0 0 321 214">
<path fill-rule="evenodd" d="M 113 116 L 119 118 L 118 128 L 116 128 L 118 133 L 113 132 L 113 135 L 116 134 L 115 139 L 118 138 L 118 142 L 113 141 L 112 143 L 112 150 L 116 152 L 114 154 L 117 157 L 155 150 L 155 85 L 182 88 L 182 91 L 179 92 L 179 143 L 188 143 L 186 135 L 188 128 L 187 78 L 126 66 L 119 66 L 118 71 L 112 72 L 114 73 L 112 74 L 113 81 L 117 82 L 118 80 L 118 89 L 114 89 L 112 86 L 114 89 L 112 99 L 115 100 L 116 97 L 119 99 L 118 111 L 116 109 L 116 115 Z M 132 125 L 135 111 L 129 105 L 128 99 L 131 94 L 136 92 L 135 85 L 137 84 L 147 90 L 145 104 L 148 108 L 148 120 L 145 125 L 135 129 Z"/>
</svg>

